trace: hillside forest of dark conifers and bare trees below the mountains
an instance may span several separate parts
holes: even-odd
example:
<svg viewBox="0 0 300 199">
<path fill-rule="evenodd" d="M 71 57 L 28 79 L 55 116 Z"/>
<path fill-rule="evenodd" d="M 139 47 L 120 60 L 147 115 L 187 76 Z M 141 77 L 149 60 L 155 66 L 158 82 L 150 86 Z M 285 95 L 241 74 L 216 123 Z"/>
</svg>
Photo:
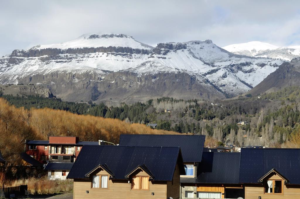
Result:
<svg viewBox="0 0 300 199">
<path fill-rule="evenodd" d="M 122 103 L 116 107 L 108 107 L 103 103 L 95 104 L 91 101 L 63 102 L 55 98 L 3 94 L 2 97 L 11 105 L 29 110 L 49 107 L 79 115 L 119 119 L 128 125 L 157 123 L 157 129 L 207 135 L 207 139 L 210 137 L 226 144 L 300 147 L 298 86 L 256 96 L 248 94 L 236 99 L 215 101 L 213 104 L 196 99 L 163 97 L 132 105 Z M 244 121 L 247 125 L 238 125 L 239 121 Z M 63 131 L 72 132 L 66 128 Z M 106 133 L 104 135 L 107 136 Z M 96 134 L 97 136 L 99 135 Z M 110 136 L 106 138 L 118 139 L 113 137 L 114 134 Z"/>
</svg>

